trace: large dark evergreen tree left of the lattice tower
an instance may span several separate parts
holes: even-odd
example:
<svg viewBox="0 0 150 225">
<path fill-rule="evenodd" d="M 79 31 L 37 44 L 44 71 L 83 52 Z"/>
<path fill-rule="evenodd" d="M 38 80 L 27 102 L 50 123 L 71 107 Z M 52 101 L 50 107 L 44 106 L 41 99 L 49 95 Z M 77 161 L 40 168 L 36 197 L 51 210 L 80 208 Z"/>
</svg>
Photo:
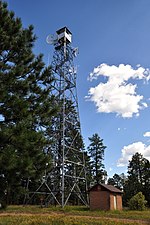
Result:
<svg viewBox="0 0 150 225">
<path fill-rule="evenodd" d="M 0 40 L 0 177 L 13 202 L 22 184 L 39 179 L 50 162 L 53 76 L 42 55 L 33 54 L 33 26 L 24 29 L 2 1 Z"/>
</svg>

